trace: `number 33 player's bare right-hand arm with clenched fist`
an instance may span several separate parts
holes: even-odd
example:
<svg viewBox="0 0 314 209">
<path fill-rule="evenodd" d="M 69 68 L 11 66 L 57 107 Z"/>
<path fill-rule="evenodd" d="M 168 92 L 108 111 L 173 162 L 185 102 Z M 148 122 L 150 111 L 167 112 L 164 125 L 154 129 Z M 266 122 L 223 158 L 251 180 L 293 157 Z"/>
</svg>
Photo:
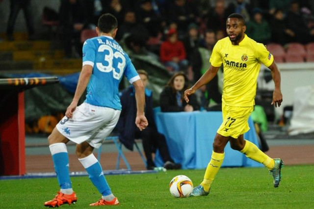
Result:
<svg viewBox="0 0 314 209">
<path fill-rule="evenodd" d="M 136 98 L 136 119 L 135 124 L 139 130 L 144 130 L 148 126 L 148 121 L 144 115 L 144 105 L 145 105 L 145 88 L 142 80 L 136 80 L 133 83 L 135 88 L 135 98 Z"/>
</svg>

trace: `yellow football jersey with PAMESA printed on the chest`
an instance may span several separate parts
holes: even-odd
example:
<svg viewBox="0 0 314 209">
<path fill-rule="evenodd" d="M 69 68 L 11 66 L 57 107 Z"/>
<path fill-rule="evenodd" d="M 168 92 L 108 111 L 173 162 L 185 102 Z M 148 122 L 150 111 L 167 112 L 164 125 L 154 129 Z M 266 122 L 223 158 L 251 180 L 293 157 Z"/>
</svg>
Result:
<svg viewBox="0 0 314 209">
<path fill-rule="evenodd" d="M 255 104 L 257 78 L 261 63 L 266 67 L 274 60 L 263 44 L 246 34 L 239 45 L 232 45 L 229 37 L 219 40 L 213 48 L 209 62 L 224 67 L 222 101 L 229 106 L 252 106 Z"/>
</svg>

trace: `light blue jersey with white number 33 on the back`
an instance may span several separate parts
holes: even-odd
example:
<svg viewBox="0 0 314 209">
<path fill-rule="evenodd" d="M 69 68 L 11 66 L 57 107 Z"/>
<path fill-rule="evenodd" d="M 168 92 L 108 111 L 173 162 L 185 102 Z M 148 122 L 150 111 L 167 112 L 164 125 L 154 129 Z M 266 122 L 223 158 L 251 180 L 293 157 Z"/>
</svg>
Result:
<svg viewBox="0 0 314 209">
<path fill-rule="evenodd" d="M 130 83 L 140 79 L 129 55 L 112 37 L 99 36 L 84 42 L 84 65 L 93 67 L 85 102 L 121 110 L 119 83 L 123 75 Z"/>
</svg>

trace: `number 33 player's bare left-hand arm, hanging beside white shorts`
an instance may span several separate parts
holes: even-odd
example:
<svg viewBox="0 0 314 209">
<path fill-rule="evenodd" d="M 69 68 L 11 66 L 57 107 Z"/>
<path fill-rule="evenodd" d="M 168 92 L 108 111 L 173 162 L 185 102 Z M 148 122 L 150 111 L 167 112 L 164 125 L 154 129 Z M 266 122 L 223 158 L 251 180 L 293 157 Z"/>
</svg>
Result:
<svg viewBox="0 0 314 209">
<path fill-rule="evenodd" d="M 73 112 L 77 108 L 78 100 L 84 93 L 86 86 L 89 82 L 89 79 L 92 75 L 92 72 L 93 72 L 93 67 L 91 65 L 84 65 L 82 67 L 82 71 L 79 74 L 78 85 L 77 85 L 77 89 L 75 91 L 72 103 L 68 106 L 67 111 L 65 112 L 65 115 L 68 118 L 73 117 Z"/>
</svg>

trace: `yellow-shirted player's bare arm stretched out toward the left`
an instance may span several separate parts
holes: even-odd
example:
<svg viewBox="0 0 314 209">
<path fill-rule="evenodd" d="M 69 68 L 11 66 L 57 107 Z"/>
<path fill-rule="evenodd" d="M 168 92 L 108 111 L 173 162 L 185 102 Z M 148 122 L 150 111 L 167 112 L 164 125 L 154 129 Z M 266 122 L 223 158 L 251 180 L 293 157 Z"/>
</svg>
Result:
<svg viewBox="0 0 314 209">
<path fill-rule="evenodd" d="M 212 80 L 212 78 L 217 75 L 219 68 L 220 67 L 210 66 L 209 69 L 204 73 L 204 75 L 198 81 L 196 81 L 196 83 L 191 88 L 184 91 L 184 100 L 188 103 L 188 96 L 194 94 L 197 89 Z"/>
</svg>

